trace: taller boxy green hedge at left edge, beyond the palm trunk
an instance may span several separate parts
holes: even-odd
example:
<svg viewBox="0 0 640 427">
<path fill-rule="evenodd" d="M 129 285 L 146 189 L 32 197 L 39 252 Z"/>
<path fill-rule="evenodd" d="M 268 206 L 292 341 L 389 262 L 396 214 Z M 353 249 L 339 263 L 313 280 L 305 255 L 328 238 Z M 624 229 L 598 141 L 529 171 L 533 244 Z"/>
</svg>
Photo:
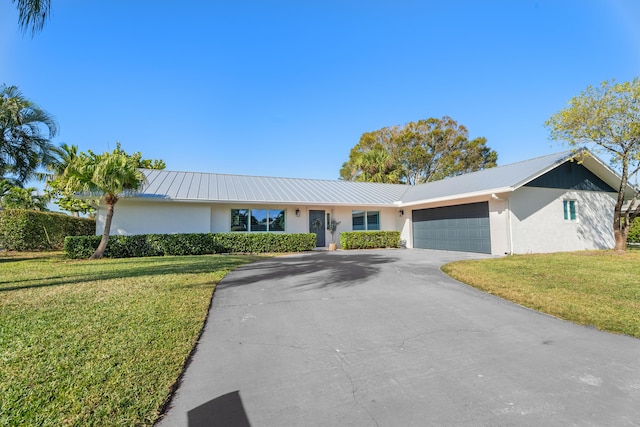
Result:
<svg viewBox="0 0 640 427">
<path fill-rule="evenodd" d="M 54 212 L 0 211 L 0 248 L 12 251 L 61 249 L 66 236 L 94 235 L 96 221 Z"/>
</svg>

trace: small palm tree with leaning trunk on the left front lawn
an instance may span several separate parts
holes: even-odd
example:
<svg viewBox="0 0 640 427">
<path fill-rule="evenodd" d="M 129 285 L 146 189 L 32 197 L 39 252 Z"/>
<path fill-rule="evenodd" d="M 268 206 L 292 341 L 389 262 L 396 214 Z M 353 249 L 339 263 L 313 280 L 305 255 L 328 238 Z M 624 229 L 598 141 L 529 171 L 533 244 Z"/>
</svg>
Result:
<svg viewBox="0 0 640 427">
<path fill-rule="evenodd" d="M 137 161 L 118 146 L 113 152 L 95 154 L 80 153 L 57 178 L 57 188 L 63 194 L 82 193 L 87 197 L 99 197 L 107 207 L 104 232 L 91 259 L 100 259 L 109 242 L 114 207 L 119 198 L 138 190 L 145 182 Z"/>
</svg>

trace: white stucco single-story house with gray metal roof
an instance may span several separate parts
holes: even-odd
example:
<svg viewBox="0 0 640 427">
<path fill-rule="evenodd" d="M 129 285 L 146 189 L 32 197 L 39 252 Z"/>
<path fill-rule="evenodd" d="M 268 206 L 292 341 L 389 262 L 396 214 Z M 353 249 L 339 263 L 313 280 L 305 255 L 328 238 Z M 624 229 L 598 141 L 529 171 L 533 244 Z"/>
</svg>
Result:
<svg viewBox="0 0 640 427">
<path fill-rule="evenodd" d="M 117 203 L 111 233 L 315 232 L 322 247 L 333 218 L 338 234 L 397 230 L 408 248 L 495 255 L 612 248 L 620 177 L 587 154 L 416 186 L 144 170 L 144 187 Z M 97 234 L 105 214 L 98 210 Z"/>
</svg>

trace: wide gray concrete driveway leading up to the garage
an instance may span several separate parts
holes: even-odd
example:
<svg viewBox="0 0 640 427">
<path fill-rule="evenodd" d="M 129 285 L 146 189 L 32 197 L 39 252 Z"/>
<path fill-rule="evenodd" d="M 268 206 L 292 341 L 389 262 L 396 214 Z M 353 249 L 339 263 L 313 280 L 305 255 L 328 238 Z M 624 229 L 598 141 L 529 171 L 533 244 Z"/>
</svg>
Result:
<svg viewBox="0 0 640 427">
<path fill-rule="evenodd" d="M 229 274 L 161 426 L 640 425 L 640 340 L 476 291 L 427 250 Z"/>
</svg>

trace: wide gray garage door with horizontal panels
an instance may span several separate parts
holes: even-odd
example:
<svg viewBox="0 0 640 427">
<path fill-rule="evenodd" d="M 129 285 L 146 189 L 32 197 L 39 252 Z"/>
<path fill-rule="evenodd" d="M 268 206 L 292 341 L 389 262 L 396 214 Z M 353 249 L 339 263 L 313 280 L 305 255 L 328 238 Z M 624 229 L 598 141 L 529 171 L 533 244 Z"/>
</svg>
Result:
<svg viewBox="0 0 640 427">
<path fill-rule="evenodd" d="M 413 247 L 491 253 L 489 203 L 470 203 L 412 213 Z"/>
</svg>

